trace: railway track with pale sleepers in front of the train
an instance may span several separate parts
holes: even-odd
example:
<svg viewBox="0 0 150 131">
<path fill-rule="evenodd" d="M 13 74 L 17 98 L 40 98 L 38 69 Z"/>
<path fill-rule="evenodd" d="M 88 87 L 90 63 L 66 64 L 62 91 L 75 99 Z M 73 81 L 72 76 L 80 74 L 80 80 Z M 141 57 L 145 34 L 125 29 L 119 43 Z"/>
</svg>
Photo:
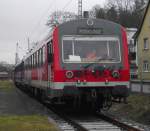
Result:
<svg viewBox="0 0 150 131">
<path fill-rule="evenodd" d="M 54 120 L 63 131 L 144 131 L 133 123 L 121 122 L 104 114 L 67 115 L 64 111 L 46 106 L 62 119 Z"/>
</svg>

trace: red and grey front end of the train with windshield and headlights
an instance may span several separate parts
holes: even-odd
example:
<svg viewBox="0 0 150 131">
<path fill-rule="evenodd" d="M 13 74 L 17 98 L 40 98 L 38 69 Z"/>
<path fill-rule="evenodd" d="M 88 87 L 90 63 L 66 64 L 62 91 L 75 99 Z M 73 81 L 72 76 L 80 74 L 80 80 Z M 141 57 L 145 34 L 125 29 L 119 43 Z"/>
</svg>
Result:
<svg viewBox="0 0 150 131">
<path fill-rule="evenodd" d="M 124 28 L 101 19 L 58 26 L 53 34 L 54 97 L 108 108 L 129 93 L 129 63 Z"/>
</svg>

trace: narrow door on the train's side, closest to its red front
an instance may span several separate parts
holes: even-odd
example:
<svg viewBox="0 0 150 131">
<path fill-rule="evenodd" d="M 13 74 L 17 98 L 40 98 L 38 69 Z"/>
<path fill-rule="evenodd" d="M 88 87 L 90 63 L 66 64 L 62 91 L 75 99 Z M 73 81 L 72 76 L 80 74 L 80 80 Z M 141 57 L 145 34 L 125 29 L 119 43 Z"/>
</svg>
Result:
<svg viewBox="0 0 150 131">
<path fill-rule="evenodd" d="M 48 54 L 48 88 L 52 86 L 52 62 L 53 62 L 53 49 L 52 41 L 47 43 L 47 54 Z"/>
</svg>

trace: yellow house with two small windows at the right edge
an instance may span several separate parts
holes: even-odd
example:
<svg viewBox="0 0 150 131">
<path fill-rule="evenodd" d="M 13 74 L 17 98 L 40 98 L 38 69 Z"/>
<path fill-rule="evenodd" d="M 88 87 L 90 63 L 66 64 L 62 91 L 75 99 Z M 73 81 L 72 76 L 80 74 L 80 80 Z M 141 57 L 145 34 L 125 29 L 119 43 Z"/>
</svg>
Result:
<svg viewBox="0 0 150 131">
<path fill-rule="evenodd" d="M 143 81 L 150 81 L 150 1 L 135 38 L 138 52 L 138 78 Z"/>
</svg>

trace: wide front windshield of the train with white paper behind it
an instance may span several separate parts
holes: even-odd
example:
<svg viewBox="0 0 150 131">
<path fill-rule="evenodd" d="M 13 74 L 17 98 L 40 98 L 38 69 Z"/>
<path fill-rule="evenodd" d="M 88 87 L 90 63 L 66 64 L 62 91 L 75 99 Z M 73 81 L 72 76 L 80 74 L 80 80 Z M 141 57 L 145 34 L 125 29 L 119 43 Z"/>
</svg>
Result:
<svg viewBox="0 0 150 131">
<path fill-rule="evenodd" d="M 119 63 L 118 37 L 63 37 L 64 63 Z"/>
</svg>

